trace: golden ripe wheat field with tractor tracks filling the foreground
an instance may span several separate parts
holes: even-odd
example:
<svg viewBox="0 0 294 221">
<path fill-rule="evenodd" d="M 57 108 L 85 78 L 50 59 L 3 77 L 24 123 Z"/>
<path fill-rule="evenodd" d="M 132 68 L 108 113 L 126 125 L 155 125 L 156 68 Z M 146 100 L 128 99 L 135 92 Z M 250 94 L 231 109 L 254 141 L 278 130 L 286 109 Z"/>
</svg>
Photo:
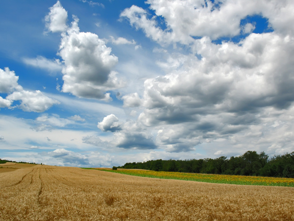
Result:
<svg viewBox="0 0 294 221">
<path fill-rule="evenodd" d="M 16 165 L 3 165 L 17 167 Z M 294 220 L 294 188 L 42 165 L 0 172 L 0 220 Z M 15 168 L 16 169 L 16 168 Z"/>
</svg>

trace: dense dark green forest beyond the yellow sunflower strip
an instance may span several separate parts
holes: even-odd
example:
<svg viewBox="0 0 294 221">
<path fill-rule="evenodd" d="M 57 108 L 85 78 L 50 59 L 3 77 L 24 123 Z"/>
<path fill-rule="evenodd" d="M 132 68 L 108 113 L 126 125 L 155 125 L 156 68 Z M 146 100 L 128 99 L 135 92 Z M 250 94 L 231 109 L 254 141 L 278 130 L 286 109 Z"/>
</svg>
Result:
<svg viewBox="0 0 294 221">
<path fill-rule="evenodd" d="M 275 155 L 269 159 L 269 155 L 264 151 L 259 154 L 256 151 L 247 151 L 230 159 L 221 156 L 199 160 L 150 160 L 143 163 L 126 163 L 118 168 L 294 178 L 294 152 Z"/>
</svg>

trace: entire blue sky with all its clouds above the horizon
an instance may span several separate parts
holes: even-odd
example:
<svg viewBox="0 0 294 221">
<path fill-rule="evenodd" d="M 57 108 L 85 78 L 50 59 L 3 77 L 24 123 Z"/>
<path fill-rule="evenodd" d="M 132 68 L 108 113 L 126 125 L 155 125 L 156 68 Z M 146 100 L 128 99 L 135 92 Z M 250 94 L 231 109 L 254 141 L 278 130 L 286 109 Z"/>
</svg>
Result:
<svg viewBox="0 0 294 221">
<path fill-rule="evenodd" d="M 1 0 L 0 158 L 294 151 L 293 0 Z"/>
</svg>

